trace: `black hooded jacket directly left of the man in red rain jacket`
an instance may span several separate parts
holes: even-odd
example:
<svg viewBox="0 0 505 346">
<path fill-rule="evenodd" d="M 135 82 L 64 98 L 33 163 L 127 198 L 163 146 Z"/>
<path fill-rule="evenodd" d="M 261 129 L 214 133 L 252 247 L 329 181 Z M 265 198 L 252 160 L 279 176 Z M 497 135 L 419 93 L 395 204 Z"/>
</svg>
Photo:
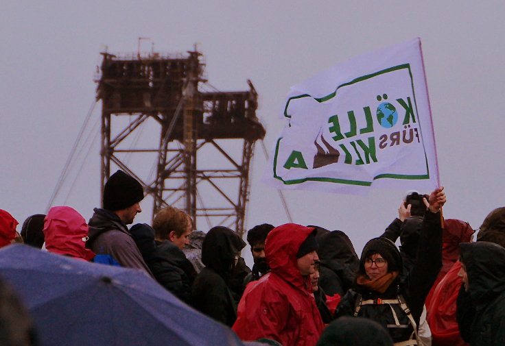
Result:
<svg viewBox="0 0 505 346">
<path fill-rule="evenodd" d="M 205 268 L 198 273 L 191 290 L 195 308 L 230 327 L 237 319 L 237 301 L 229 282 L 235 256 L 245 246 L 244 240 L 229 228 L 211 228 L 202 244 Z"/>
</svg>

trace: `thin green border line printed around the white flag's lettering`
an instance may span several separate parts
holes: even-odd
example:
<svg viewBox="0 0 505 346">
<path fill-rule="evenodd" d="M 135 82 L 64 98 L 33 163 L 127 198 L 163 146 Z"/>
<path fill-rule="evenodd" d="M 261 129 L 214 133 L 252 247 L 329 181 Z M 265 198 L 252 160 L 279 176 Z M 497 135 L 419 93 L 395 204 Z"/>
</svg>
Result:
<svg viewBox="0 0 505 346">
<path fill-rule="evenodd" d="M 417 102 L 416 102 L 416 93 L 414 91 L 414 79 L 412 77 L 412 71 L 410 70 L 410 64 L 401 64 L 398 66 L 393 66 L 388 69 L 384 69 L 375 73 L 371 73 L 370 75 L 364 75 L 362 77 L 357 77 L 353 79 L 351 82 L 347 82 L 344 84 L 341 84 L 338 86 L 335 91 L 331 92 L 331 94 L 326 95 L 325 97 L 320 97 L 314 99 L 318 101 L 319 103 L 328 101 L 329 99 L 332 99 L 333 97 L 336 97 L 338 89 L 342 88 L 342 86 L 349 86 L 351 84 L 355 84 L 357 82 L 362 82 L 366 79 L 370 79 L 373 77 L 376 77 L 377 75 L 383 75 L 384 73 L 389 73 L 392 71 L 397 71 L 401 69 L 408 69 L 408 74 L 410 75 L 410 84 L 412 85 L 412 96 L 414 97 L 414 106 L 416 108 L 416 115 L 417 119 L 419 119 L 419 112 L 417 110 Z M 290 115 L 287 115 L 287 108 L 290 105 L 290 102 L 292 99 L 302 99 L 303 97 L 312 97 L 308 94 L 303 94 L 303 95 L 298 95 L 294 97 L 290 97 L 290 99 L 287 100 L 286 106 L 284 108 L 284 116 L 288 119 L 291 119 Z M 422 137 L 422 129 L 421 126 L 419 127 L 419 130 L 421 131 L 421 137 Z M 301 179 L 294 179 L 294 180 L 283 180 L 282 177 L 279 177 L 277 175 L 277 156 L 279 154 L 279 144 L 281 143 L 281 138 L 277 140 L 277 145 L 275 146 L 275 154 L 274 154 L 274 178 L 281 180 L 283 184 L 285 185 L 294 185 L 294 184 L 301 184 L 303 182 L 330 182 L 330 183 L 336 183 L 336 184 L 349 184 L 349 185 L 357 185 L 357 186 L 371 186 L 372 182 L 365 182 L 362 180 L 347 180 L 347 179 L 338 179 L 338 178 L 329 178 L 329 177 L 306 177 L 306 178 L 301 178 Z M 430 167 L 428 166 L 428 160 L 426 156 L 426 149 L 424 147 L 424 142 L 423 142 L 423 150 L 424 150 L 424 157 L 425 157 L 425 162 L 426 162 L 426 174 L 423 175 L 402 175 L 402 174 L 394 174 L 394 173 L 382 173 L 379 175 L 376 175 L 373 177 L 373 180 L 377 179 L 382 179 L 382 178 L 390 178 L 390 179 L 401 179 L 401 180 L 425 180 L 425 179 L 430 179 Z"/>
</svg>

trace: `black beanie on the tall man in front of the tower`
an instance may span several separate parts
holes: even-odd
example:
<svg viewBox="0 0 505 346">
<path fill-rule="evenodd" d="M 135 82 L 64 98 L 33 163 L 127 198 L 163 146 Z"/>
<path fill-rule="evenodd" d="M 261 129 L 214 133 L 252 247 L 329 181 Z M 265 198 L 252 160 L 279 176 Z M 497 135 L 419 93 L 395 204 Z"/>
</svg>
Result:
<svg viewBox="0 0 505 346">
<path fill-rule="evenodd" d="M 110 175 L 104 187 L 104 209 L 115 211 L 133 206 L 144 198 L 142 185 L 137 180 L 118 170 Z"/>
</svg>

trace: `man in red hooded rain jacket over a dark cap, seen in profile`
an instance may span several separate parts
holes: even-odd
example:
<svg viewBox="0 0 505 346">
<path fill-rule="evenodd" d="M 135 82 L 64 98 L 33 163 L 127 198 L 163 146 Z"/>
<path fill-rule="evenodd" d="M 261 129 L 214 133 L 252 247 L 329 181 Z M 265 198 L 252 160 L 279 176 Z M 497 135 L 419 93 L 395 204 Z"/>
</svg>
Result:
<svg viewBox="0 0 505 346">
<path fill-rule="evenodd" d="M 244 341 L 270 338 L 283 346 L 314 346 L 324 328 L 310 274 L 318 261 L 314 228 L 286 223 L 265 243 L 270 273 L 248 284 L 233 330 Z"/>
</svg>

